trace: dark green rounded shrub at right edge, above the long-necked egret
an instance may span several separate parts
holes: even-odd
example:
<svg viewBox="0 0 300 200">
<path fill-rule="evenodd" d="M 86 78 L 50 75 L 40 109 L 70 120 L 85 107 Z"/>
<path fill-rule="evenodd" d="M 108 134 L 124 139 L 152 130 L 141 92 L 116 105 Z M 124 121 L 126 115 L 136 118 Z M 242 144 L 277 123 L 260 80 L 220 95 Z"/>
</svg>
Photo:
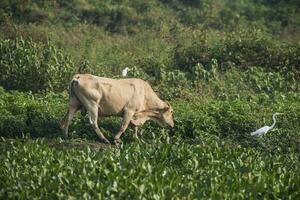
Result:
<svg viewBox="0 0 300 200">
<path fill-rule="evenodd" d="M 214 52 L 222 62 L 233 62 L 241 67 L 260 66 L 269 70 L 299 70 L 300 45 L 277 44 L 260 30 L 247 30 L 226 37 L 223 44 Z"/>
</svg>

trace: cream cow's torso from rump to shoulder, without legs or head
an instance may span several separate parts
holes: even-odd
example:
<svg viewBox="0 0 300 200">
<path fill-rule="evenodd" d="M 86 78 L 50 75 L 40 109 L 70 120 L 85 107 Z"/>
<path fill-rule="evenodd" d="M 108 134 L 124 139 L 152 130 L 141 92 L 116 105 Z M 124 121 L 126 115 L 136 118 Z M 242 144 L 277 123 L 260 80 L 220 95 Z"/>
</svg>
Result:
<svg viewBox="0 0 300 200">
<path fill-rule="evenodd" d="M 141 79 L 110 79 L 89 74 L 75 75 L 78 96 L 97 102 L 102 116 L 122 115 L 124 109 L 142 110 L 147 83 Z M 84 100 L 85 98 L 85 100 Z M 80 99 L 80 98 L 79 98 Z"/>
</svg>

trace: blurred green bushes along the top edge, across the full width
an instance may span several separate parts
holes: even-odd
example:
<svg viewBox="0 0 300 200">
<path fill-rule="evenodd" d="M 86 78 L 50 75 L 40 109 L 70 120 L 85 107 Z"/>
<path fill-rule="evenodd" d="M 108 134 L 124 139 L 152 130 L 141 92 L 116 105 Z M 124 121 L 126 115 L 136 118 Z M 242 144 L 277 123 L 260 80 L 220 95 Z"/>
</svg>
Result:
<svg viewBox="0 0 300 200">
<path fill-rule="evenodd" d="M 151 0 L 140 1 L 8 1 L 0 3 L 0 23 L 91 23 L 113 33 L 138 33 L 137 27 L 158 27 L 155 19 L 188 26 L 234 29 L 254 24 L 270 32 L 299 31 L 296 1 Z M 141 14 L 142 13 L 142 14 Z M 157 17 L 161 16 L 161 17 Z M 160 23 L 160 22 L 159 22 Z"/>
</svg>

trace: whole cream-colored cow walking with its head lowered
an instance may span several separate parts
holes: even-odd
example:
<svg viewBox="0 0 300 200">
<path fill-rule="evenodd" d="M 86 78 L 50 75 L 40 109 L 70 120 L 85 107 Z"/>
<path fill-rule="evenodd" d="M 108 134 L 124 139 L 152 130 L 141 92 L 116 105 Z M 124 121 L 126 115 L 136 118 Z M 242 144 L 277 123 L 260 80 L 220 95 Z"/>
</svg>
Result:
<svg viewBox="0 0 300 200">
<path fill-rule="evenodd" d="M 131 123 L 135 126 L 134 137 L 138 139 L 138 127 L 147 120 L 161 126 L 173 127 L 173 109 L 162 101 L 151 86 L 141 79 L 110 79 L 90 74 L 77 74 L 70 83 L 69 109 L 61 120 L 61 128 L 68 137 L 68 127 L 78 110 L 87 111 L 90 124 L 100 139 L 109 143 L 101 133 L 97 120 L 107 116 L 123 117 L 115 143 Z"/>
</svg>

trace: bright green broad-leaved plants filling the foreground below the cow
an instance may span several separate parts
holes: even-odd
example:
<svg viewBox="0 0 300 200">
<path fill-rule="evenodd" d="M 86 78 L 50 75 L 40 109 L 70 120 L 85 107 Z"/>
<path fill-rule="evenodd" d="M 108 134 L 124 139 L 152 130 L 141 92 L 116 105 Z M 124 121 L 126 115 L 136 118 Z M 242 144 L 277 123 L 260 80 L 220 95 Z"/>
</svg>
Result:
<svg viewBox="0 0 300 200">
<path fill-rule="evenodd" d="M 202 139 L 189 144 L 163 135 L 150 144 L 136 142 L 104 149 L 90 142 L 73 141 L 74 146 L 68 148 L 70 143 L 65 141 L 13 141 L 1 147 L 1 185 L 5 187 L 1 187 L 0 196 L 299 197 L 299 160 L 293 150 L 278 155 L 213 138 Z M 80 148 L 75 147 L 78 143 Z"/>
</svg>

